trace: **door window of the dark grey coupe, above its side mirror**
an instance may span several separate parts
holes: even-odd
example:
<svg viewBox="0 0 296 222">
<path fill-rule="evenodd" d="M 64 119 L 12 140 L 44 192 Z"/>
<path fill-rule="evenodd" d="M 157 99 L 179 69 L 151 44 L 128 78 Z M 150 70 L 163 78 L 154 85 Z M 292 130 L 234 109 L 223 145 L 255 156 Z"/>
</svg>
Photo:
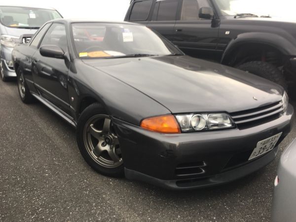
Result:
<svg viewBox="0 0 296 222">
<path fill-rule="evenodd" d="M 61 49 L 64 50 L 64 52 L 68 51 L 68 43 L 67 43 L 67 37 L 66 37 L 66 28 L 62 24 L 53 24 L 43 37 L 43 40 L 40 44 L 40 47 L 42 45 L 57 45 Z"/>
</svg>

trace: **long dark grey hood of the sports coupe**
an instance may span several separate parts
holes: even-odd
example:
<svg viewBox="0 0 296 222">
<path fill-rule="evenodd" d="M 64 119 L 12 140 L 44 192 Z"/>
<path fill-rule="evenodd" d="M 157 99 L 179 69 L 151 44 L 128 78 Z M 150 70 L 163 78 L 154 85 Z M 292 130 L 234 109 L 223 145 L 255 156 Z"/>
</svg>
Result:
<svg viewBox="0 0 296 222">
<path fill-rule="evenodd" d="M 282 87 L 268 80 L 189 56 L 84 62 L 134 87 L 172 113 L 244 111 L 278 102 L 283 95 Z"/>
</svg>

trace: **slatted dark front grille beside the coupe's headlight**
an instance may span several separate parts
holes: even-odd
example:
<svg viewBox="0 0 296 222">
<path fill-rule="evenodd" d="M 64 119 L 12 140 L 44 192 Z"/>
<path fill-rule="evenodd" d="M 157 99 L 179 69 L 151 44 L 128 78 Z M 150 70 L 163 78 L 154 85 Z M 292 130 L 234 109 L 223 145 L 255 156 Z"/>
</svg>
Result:
<svg viewBox="0 0 296 222">
<path fill-rule="evenodd" d="M 262 124 L 264 121 L 272 121 L 273 119 L 278 118 L 282 111 L 282 102 L 277 102 L 252 110 L 233 112 L 230 113 L 230 115 L 237 127 L 241 128 L 251 126 L 250 123 L 254 122 Z"/>
</svg>

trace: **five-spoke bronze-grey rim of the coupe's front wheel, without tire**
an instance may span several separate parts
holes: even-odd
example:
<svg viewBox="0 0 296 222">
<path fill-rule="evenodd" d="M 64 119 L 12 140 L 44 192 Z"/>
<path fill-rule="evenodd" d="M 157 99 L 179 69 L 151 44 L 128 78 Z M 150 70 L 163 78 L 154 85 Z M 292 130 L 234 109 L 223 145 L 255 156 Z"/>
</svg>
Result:
<svg viewBox="0 0 296 222">
<path fill-rule="evenodd" d="M 98 114 L 91 117 L 83 129 L 83 142 L 88 154 L 100 166 L 116 168 L 122 165 L 121 150 L 110 116 Z"/>
</svg>

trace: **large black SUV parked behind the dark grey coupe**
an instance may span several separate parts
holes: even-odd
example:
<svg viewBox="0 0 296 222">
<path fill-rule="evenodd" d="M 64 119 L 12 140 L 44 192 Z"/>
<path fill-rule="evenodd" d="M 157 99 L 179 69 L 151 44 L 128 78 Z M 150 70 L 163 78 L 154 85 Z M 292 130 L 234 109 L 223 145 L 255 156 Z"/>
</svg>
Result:
<svg viewBox="0 0 296 222">
<path fill-rule="evenodd" d="M 160 33 L 186 54 L 282 85 L 296 80 L 296 22 L 234 11 L 240 0 L 132 0 L 125 21 Z"/>
</svg>

